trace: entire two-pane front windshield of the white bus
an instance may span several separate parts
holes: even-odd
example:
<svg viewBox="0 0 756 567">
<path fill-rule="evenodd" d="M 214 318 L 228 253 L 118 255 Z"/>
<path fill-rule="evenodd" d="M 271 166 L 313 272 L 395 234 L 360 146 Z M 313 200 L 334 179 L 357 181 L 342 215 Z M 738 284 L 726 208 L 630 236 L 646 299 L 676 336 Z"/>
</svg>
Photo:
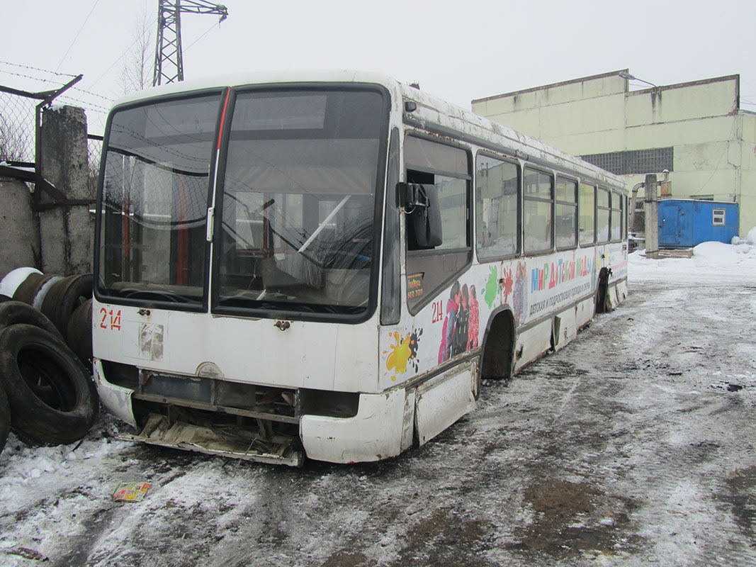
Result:
<svg viewBox="0 0 756 567">
<path fill-rule="evenodd" d="M 212 280 L 219 311 L 364 313 L 377 264 L 383 95 L 360 88 L 232 92 L 213 199 L 221 99 L 220 92 L 194 95 L 113 113 L 99 292 L 200 308 Z"/>
</svg>

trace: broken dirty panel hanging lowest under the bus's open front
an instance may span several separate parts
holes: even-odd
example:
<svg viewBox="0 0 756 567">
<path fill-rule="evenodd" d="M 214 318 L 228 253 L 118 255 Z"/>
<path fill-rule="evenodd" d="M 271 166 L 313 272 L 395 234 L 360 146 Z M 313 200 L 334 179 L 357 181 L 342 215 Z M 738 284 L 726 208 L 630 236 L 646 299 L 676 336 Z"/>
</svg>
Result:
<svg viewBox="0 0 756 567">
<path fill-rule="evenodd" d="M 182 421 L 170 423 L 168 417 L 160 414 L 150 414 L 139 435 L 125 434 L 118 438 L 259 463 L 302 466 L 304 462 L 302 451 L 293 447 L 293 438 L 276 435 L 272 440 L 248 443 L 246 440 L 230 439 L 210 427 Z"/>
</svg>

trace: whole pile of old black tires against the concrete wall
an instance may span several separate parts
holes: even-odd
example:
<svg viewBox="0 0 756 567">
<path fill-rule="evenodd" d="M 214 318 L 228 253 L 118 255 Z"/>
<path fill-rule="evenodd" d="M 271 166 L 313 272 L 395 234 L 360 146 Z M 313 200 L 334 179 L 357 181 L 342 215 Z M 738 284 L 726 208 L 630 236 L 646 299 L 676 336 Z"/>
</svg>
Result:
<svg viewBox="0 0 756 567">
<path fill-rule="evenodd" d="M 84 437 L 98 417 L 91 379 L 91 274 L 19 268 L 0 282 L 0 451 Z"/>
</svg>

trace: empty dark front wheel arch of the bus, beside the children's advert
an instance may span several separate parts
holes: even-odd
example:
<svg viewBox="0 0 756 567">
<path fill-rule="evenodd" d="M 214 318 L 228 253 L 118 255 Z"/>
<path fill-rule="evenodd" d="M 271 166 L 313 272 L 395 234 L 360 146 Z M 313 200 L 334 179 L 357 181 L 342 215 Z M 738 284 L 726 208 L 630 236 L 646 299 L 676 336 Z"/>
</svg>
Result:
<svg viewBox="0 0 756 567">
<path fill-rule="evenodd" d="M 482 380 L 508 380 L 515 361 L 515 317 L 509 305 L 495 309 L 483 338 L 479 376 Z"/>
</svg>

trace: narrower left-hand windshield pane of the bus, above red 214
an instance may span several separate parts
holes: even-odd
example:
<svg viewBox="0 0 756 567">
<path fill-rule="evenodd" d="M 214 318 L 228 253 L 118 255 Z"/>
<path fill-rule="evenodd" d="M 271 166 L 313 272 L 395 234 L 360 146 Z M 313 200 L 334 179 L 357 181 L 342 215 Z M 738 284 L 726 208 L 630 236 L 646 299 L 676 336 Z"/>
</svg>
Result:
<svg viewBox="0 0 756 567">
<path fill-rule="evenodd" d="M 219 104 L 220 93 L 113 113 L 98 250 L 104 295 L 201 305 Z"/>
</svg>

